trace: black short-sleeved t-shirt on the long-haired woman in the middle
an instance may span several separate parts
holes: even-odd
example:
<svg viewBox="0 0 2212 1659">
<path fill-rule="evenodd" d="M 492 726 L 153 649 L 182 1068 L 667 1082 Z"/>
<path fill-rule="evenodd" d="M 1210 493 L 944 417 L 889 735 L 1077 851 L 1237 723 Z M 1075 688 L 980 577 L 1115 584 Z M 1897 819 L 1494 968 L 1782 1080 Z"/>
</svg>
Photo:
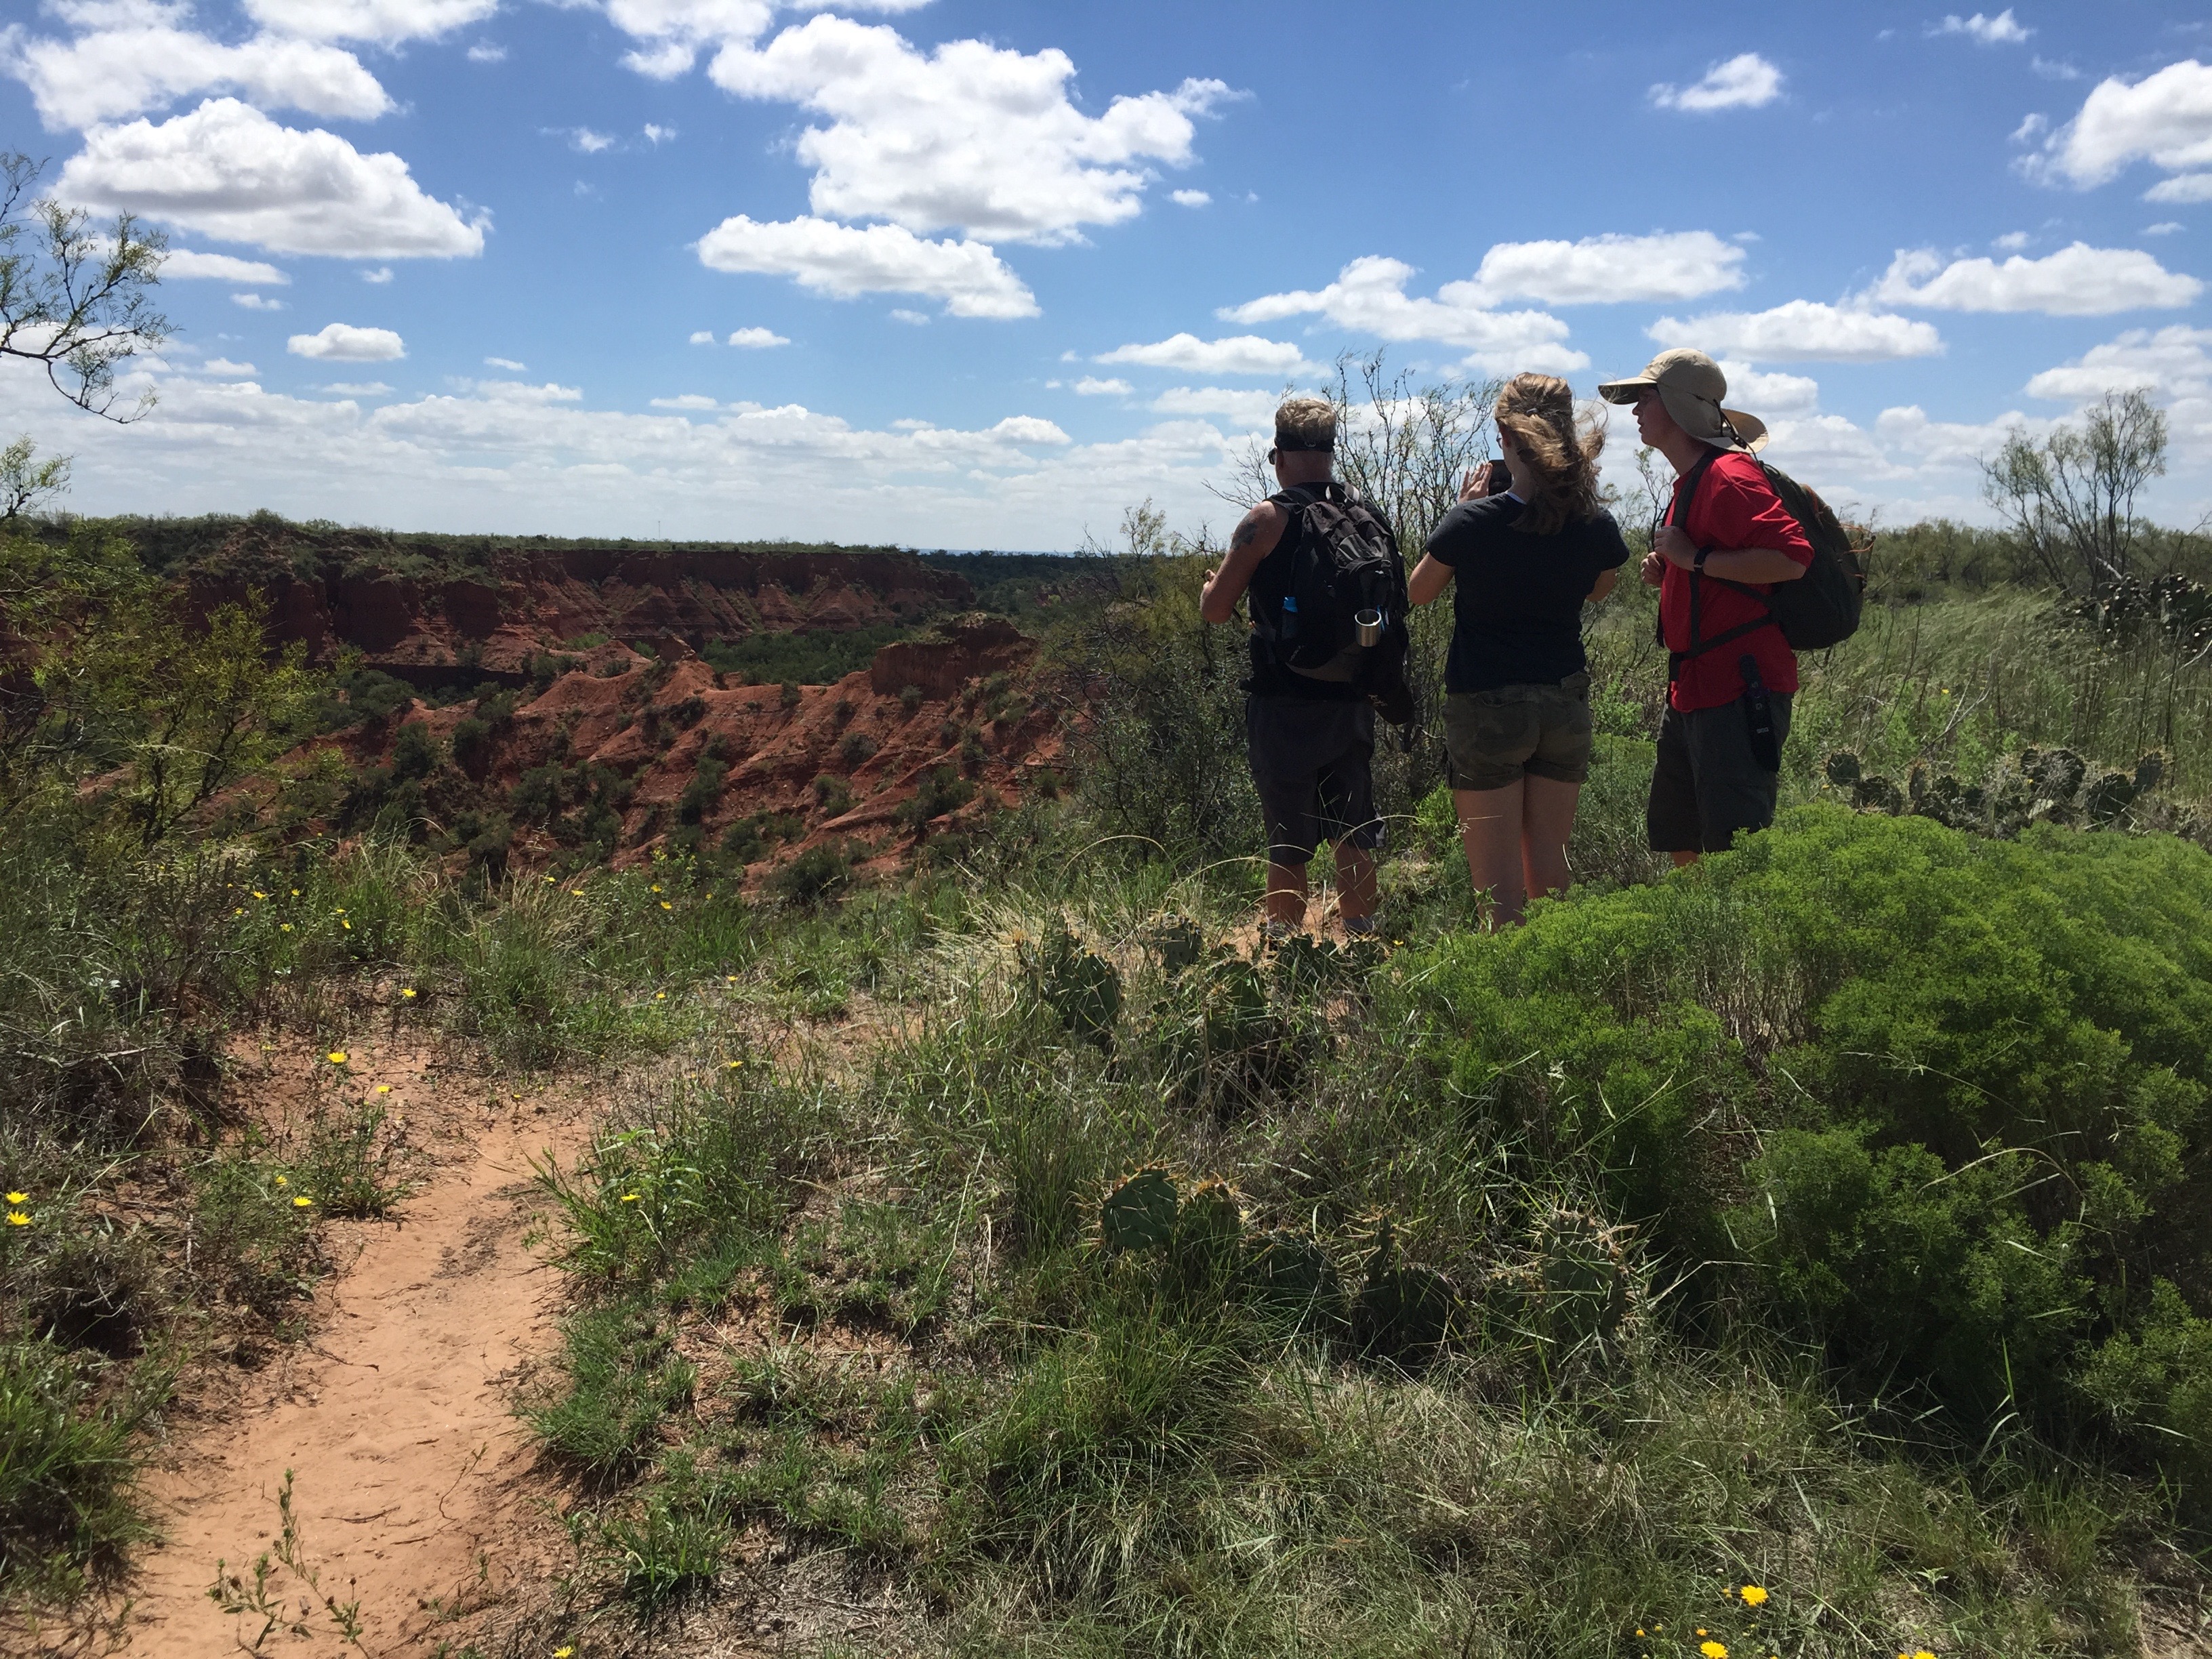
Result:
<svg viewBox="0 0 2212 1659">
<path fill-rule="evenodd" d="M 1557 686 L 1590 666 L 1582 602 L 1628 560 L 1621 526 L 1599 513 L 1531 535 L 1513 529 L 1520 515 L 1517 498 L 1484 495 L 1453 507 L 1429 535 L 1429 557 L 1453 571 L 1444 690 Z"/>
</svg>

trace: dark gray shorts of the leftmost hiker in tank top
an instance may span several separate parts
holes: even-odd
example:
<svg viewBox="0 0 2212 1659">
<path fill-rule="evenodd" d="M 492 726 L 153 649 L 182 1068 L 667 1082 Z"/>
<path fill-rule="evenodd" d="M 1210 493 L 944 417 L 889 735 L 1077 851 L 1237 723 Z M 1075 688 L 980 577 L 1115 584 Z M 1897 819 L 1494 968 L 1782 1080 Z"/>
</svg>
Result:
<svg viewBox="0 0 2212 1659">
<path fill-rule="evenodd" d="M 1365 701 L 1245 697 L 1245 750 L 1267 818 L 1267 863 L 1303 865 L 1321 841 L 1383 845 L 1376 712 Z"/>
</svg>

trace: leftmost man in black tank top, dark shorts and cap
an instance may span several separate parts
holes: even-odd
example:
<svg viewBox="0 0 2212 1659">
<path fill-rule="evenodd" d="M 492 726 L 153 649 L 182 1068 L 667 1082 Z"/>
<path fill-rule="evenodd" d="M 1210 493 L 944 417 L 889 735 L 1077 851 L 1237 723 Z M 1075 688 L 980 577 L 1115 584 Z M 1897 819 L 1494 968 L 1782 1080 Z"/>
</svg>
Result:
<svg viewBox="0 0 2212 1659">
<path fill-rule="evenodd" d="M 1274 476 L 1285 489 L 1325 484 L 1336 471 L 1336 409 L 1290 398 L 1274 411 Z M 1254 615 L 1296 628 L 1290 593 L 1303 513 L 1265 500 L 1237 524 L 1221 568 L 1206 577 L 1199 615 L 1232 622 L 1250 593 Z M 1305 865 L 1321 841 L 1336 847 L 1336 914 L 1352 936 L 1376 929 L 1376 860 L 1383 821 L 1374 803 L 1376 712 L 1356 686 L 1290 668 L 1270 633 L 1252 630 L 1245 743 L 1267 818 L 1267 931 L 1305 925 Z"/>
</svg>

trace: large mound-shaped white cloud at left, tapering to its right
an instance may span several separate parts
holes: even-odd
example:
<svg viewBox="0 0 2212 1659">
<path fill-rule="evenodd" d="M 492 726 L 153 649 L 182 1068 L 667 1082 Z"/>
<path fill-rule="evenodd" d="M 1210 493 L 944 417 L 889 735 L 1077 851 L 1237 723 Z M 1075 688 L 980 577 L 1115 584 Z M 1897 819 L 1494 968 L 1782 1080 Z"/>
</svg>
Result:
<svg viewBox="0 0 2212 1659">
<path fill-rule="evenodd" d="M 396 155 L 336 133 L 301 133 L 234 97 L 175 119 L 86 133 L 55 195 L 139 212 L 281 254 L 456 259 L 484 250 L 482 223 L 422 192 Z"/>
</svg>

